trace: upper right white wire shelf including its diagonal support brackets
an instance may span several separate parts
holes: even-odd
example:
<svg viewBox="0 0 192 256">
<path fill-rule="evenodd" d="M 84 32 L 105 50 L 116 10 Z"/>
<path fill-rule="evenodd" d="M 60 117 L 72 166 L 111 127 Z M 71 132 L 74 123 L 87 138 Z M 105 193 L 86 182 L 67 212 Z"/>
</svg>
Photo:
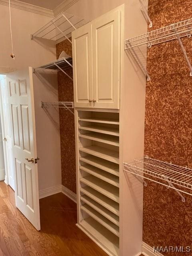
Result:
<svg viewBox="0 0 192 256">
<path fill-rule="evenodd" d="M 139 66 L 142 68 L 142 71 L 146 74 L 148 80 L 150 80 L 150 76 L 141 58 L 141 56 L 146 52 L 145 46 L 148 46 L 148 48 L 151 48 L 153 45 L 177 39 L 181 46 L 181 50 L 184 54 L 188 67 L 190 69 L 190 76 L 192 76 L 192 65 L 190 63 L 190 60 L 187 56 L 186 50 L 181 40 L 181 38 L 185 36 L 187 36 L 188 38 L 191 38 L 191 34 L 192 34 L 192 18 L 171 24 L 163 28 L 152 30 L 146 34 L 142 34 L 133 38 L 126 39 L 125 50 L 130 50 L 132 56 L 134 56 L 134 59 L 138 62 Z"/>
</svg>

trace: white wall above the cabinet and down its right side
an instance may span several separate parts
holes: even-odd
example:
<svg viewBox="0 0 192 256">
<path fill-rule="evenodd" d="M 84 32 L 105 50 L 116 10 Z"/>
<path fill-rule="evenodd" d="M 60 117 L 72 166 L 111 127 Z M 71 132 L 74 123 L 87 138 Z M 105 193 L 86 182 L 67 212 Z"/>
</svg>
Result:
<svg viewBox="0 0 192 256">
<path fill-rule="evenodd" d="M 121 4 L 125 4 L 125 39 L 146 33 L 147 23 L 138 0 L 79 0 L 66 12 L 93 20 Z M 120 134 L 123 134 L 120 138 L 120 256 L 138 256 L 142 251 L 143 185 L 132 175 L 125 175 L 122 164 L 144 154 L 146 78 L 129 53 L 127 55 L 124 51 L 123 56 L 124 82 L 121 86 L 120 107 Z"/>
</svg>

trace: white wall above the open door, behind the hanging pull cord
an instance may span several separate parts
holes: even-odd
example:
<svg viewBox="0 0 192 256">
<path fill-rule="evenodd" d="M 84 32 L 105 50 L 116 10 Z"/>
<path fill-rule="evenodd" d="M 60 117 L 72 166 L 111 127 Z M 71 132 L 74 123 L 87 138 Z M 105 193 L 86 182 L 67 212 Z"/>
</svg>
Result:
<svg viewBox="0 0 192 256">
<path fill-rule="evenodd" d="M 37 67 L 56 58 L 56 48 L 31 40 L 30 34 L 51 20 L 50 17 L 11 8 L 13 48 L 16 59 L 10 57 L 12 52 L 9 27 L 9 8 L 0 4 L 0 68 L 10 67 L 20 70 L 28 66 Z M 46 46 L 46 47 L 45 47 Z"/>
</svg>

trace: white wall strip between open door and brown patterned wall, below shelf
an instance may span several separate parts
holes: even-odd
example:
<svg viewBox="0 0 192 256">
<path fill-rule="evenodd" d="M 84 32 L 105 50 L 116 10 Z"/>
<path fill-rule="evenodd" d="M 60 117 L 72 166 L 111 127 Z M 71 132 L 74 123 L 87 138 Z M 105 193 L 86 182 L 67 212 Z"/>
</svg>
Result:
<svg viewBox="0 0 192 256">
<path fill-rule="evenodd" d="M 47 190 L 61 189 L 61 150 L 59 114 L 56 108 L 45 111 L 41 101 L 58 101 L 57 75 L 33 74 L 35 121 L 40 197 L 49 195 Z M 60 191 L 59 191 L 60 192 Z M 47 194 L 48 193 L 48 194 Z"/>
</svg>

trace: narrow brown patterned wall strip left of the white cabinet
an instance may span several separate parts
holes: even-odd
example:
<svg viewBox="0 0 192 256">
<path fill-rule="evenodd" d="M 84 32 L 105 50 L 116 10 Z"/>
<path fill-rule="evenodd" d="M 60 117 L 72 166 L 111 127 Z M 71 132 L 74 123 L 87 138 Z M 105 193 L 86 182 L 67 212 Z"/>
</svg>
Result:
<svg viewBox="0 0 192 256">
<path fill-rule="evenodd" d="M 72 45 L 68 40 L 56 45 L 57 58 L 62 51 L 72 56 Z M 72 69 L 66 71 L 72 76 Z M 63 72 L 58 72 L 59 101 L 74 101 L 73 82 Z M 60 139 L 62 185 L 76 193 L 75 130 L 74 115 L 60 109 Z"/>
</svg>

